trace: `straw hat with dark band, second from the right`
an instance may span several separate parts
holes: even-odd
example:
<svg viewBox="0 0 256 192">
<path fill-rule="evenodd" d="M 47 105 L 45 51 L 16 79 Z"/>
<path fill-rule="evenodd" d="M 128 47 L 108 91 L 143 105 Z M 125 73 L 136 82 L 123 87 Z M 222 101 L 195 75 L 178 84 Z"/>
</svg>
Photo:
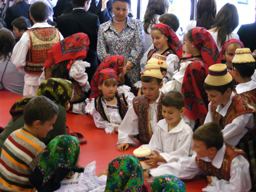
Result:
<svg viewBox="0 0 256 192">
<path fill-rule="evenodd" d="M 204 82 L 210 86 L 223 86 L 232 81 L 232 76 L 227 72 L 225 64 L 215 64 L 209 67 L 209 74 Z"/>
</svg>

